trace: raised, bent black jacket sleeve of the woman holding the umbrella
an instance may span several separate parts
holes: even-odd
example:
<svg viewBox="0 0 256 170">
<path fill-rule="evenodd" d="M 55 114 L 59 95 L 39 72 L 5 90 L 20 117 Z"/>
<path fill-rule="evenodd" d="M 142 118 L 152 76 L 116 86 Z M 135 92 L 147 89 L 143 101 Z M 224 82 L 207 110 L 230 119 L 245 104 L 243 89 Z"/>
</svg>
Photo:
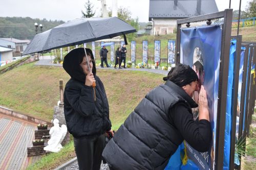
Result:
<svg viewBox="0 0 256 170">
<path fill-rule="evenodd" d="M 86 85 L 81 89 L 68 87 L 65 89 L 65 95 L 71 107 L 81 116 L 93 114 L 95 107 L 93 87 Z"/>
</svg>

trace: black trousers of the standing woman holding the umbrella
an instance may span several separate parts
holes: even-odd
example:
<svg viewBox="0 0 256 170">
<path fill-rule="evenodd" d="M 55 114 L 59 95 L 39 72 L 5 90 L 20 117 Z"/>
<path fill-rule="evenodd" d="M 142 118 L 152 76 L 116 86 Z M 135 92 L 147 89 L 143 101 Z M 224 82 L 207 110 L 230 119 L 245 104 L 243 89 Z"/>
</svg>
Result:
<svg viewBox="0 0 256 170">
<path fill-rule="evenodd" d="M 105 134 L 83 139 L 74 137 L 74 146 L 80 170 L 100 170 Z"/>
</svg>

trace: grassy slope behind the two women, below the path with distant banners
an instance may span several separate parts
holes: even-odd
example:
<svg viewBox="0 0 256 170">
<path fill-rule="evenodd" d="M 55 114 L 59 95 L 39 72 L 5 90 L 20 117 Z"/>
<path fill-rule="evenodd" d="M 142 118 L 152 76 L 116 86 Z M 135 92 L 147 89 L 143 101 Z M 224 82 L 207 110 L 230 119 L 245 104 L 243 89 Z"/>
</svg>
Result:
<svg viewBox="0 0 256 170">
<path fill-rule="evenodd" d="M 101 70 L 110 104 L 110 115 L 117 129 L 144 95 L 162 82 L 162 75 L 142 71 Z M 0 75 L 0 105 L 50 121 L 59 100 L 59 79 L 64 85 L 69 75 L 61 67 L 20 66 Z"/>
</svg>

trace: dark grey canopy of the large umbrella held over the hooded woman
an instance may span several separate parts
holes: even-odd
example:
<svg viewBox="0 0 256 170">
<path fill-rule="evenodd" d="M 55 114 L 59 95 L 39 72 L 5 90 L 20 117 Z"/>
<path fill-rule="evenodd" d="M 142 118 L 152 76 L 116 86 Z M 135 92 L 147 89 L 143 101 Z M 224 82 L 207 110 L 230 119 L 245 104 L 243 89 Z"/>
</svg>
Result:
<svg viewBox="0 0 256 170">
<path fill-rule="evenodd" d="M 35 35 L 23 55 L 113 38 L 136 32 L 135 28 L 117 17 L 80 18 L 63 23 Z"/>
</svg>

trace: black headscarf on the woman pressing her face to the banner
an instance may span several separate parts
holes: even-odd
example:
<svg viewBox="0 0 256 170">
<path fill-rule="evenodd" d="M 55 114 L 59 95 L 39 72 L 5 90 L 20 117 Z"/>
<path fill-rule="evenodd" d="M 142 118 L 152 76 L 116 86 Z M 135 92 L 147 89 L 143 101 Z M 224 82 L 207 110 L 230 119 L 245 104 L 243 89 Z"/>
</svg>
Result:
<svg viewBox="0 0 256 170">
<path fill-rule="evenodd" d="M 198 76 L 189 65 L 179 63 L 169 71 L 167 77 L 164 77 L 163 80 L 172 81 L 176 85 L 183 87 L 198 80 Z"/>
</svg>

